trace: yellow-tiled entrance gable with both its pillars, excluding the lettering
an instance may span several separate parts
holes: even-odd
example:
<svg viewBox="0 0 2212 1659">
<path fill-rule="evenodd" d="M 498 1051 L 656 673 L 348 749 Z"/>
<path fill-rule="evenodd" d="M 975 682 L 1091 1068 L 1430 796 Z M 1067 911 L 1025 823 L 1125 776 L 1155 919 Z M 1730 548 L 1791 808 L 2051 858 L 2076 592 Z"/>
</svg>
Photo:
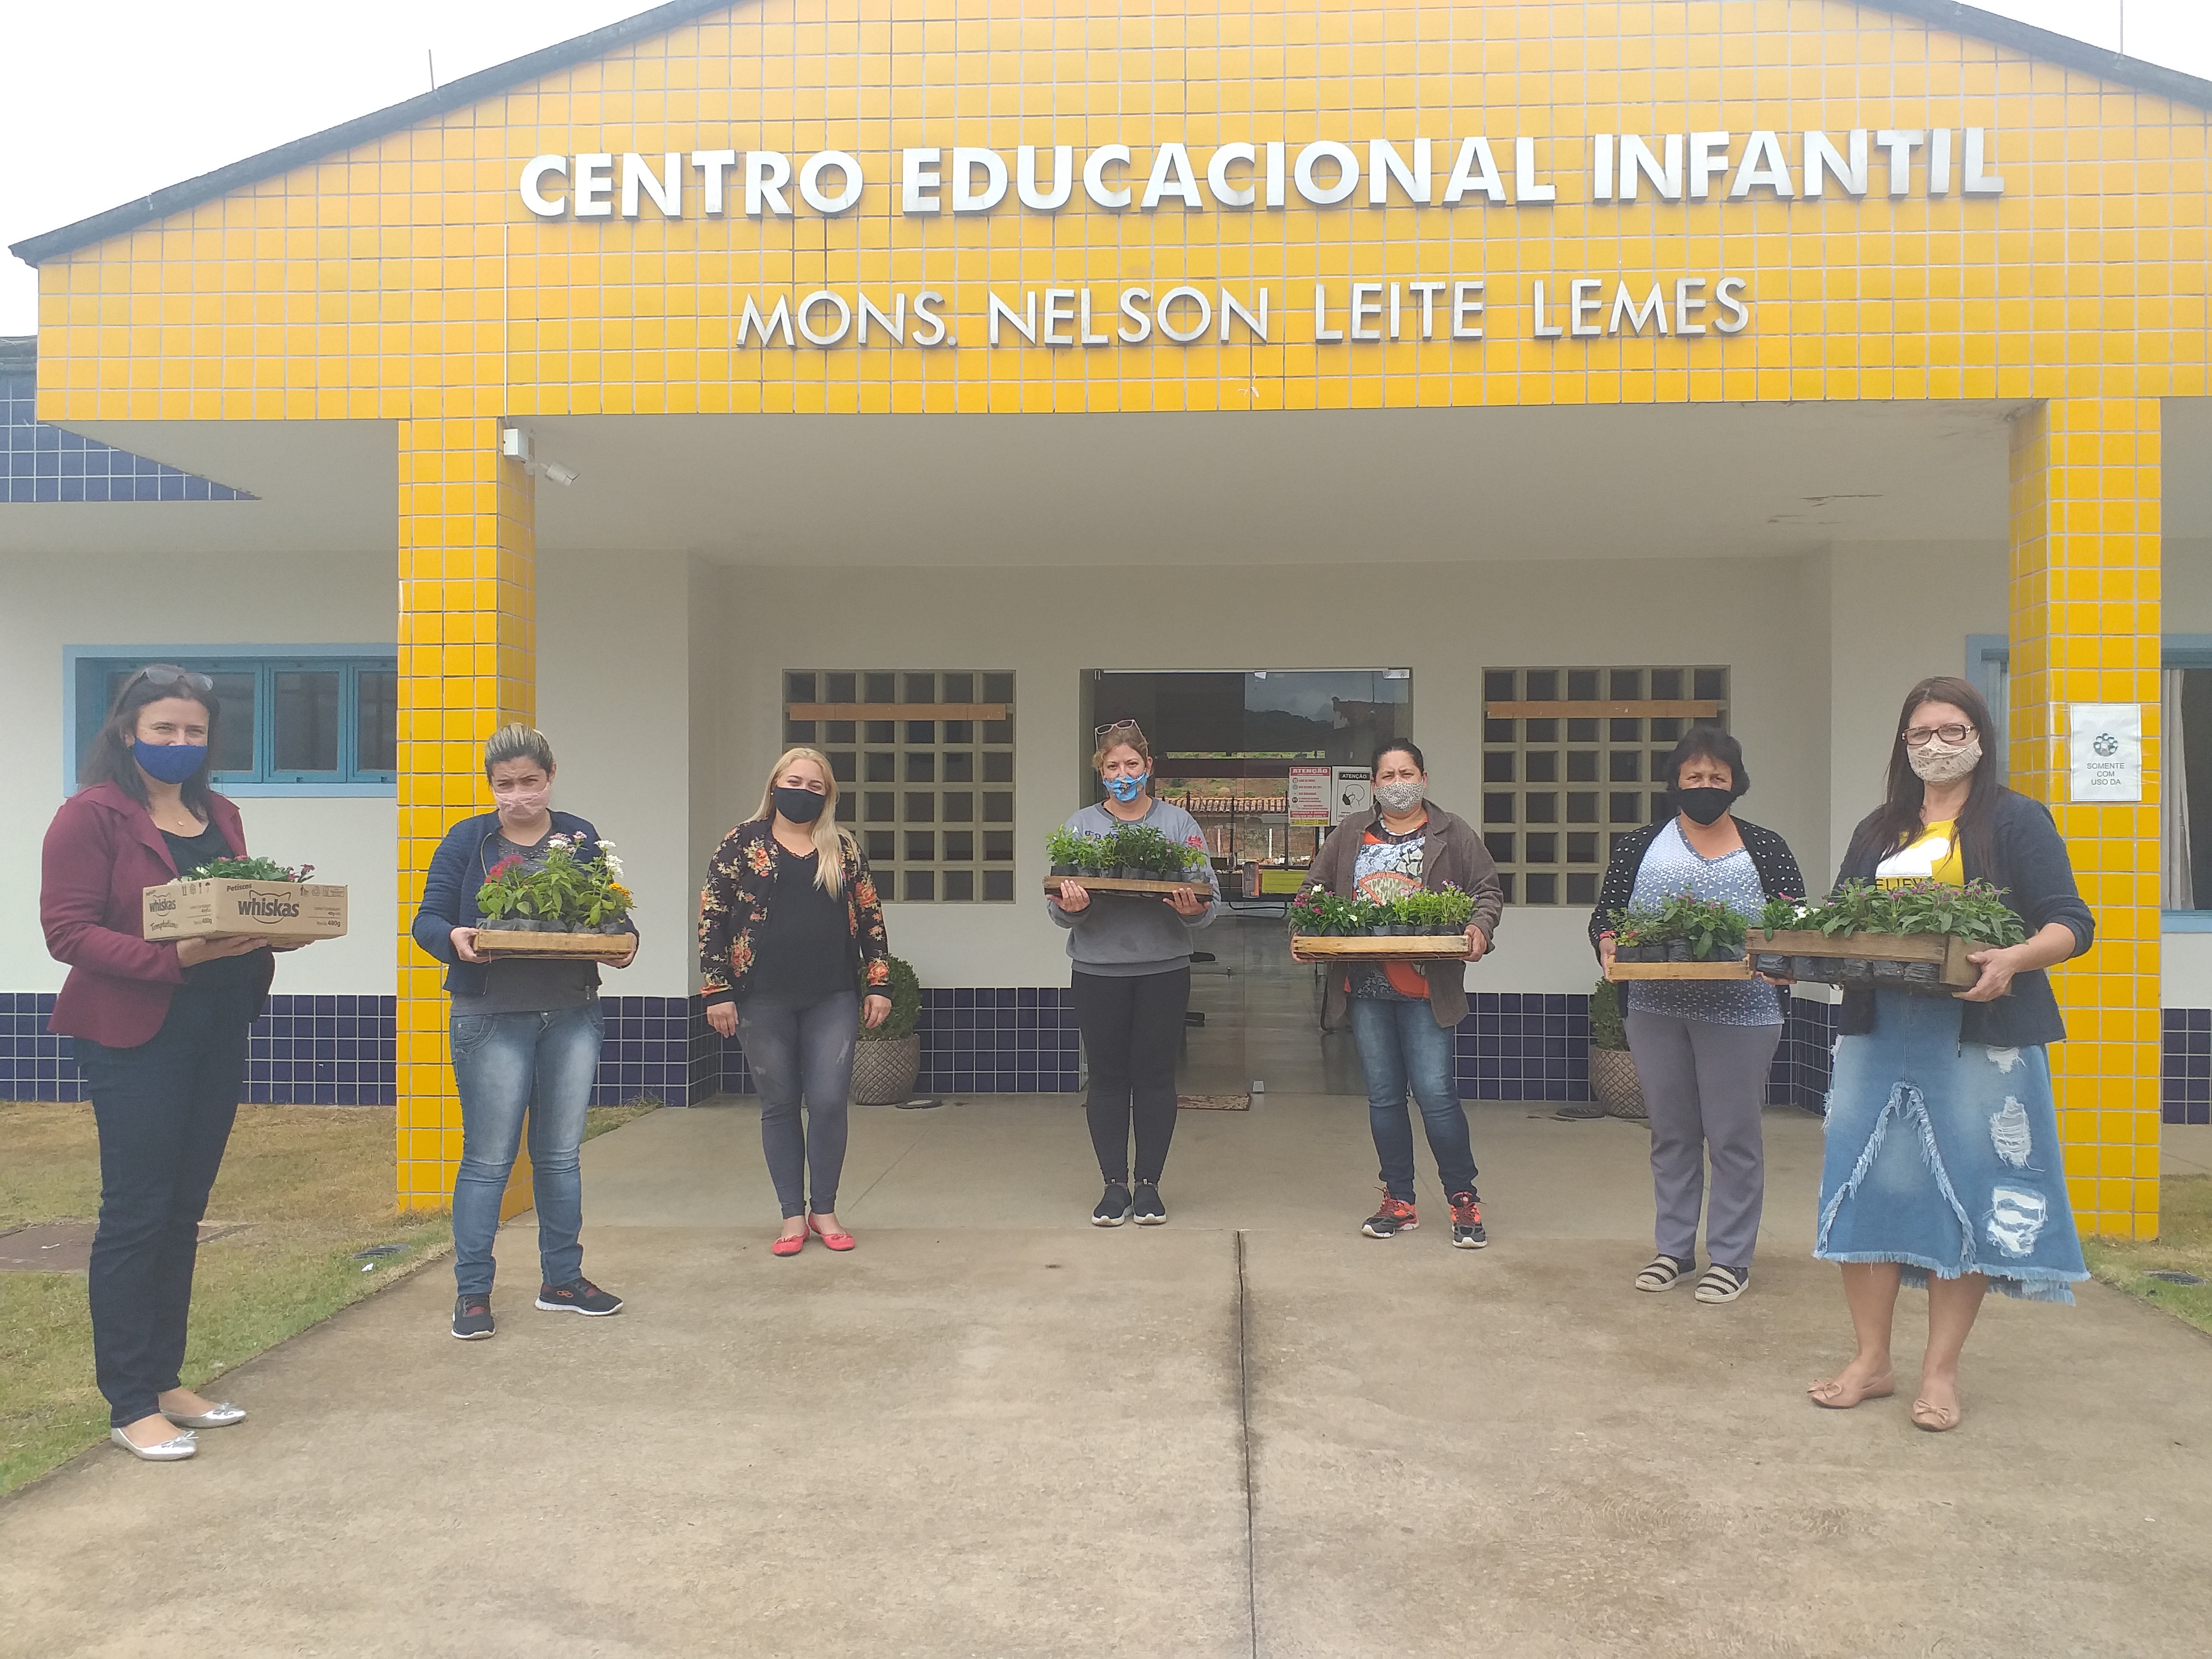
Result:
<svg viewBox="0 0 2212 1659">
<path fill-rule="evenodd" d="M 1586 199 L 1590 133 L 1721 126 L 1781 131 L 1792 153 L 1807 128 L 1984 126 L 2006 192 Z M 1203 155 L 1425 135 L 1449 168 L 1475 133 L 1506 153 L 1535 137 L 1559 201 L 1369 208 L 1358 192 L 1144 215 L 1077 190 L 1057 215 L 894 212 L 905 146 L 1121 142 L 1141 166 L 1166 139 Z M 845 148 L 869 186 L 836 219 L 540 221 L 515 195 L 540 153 L 719 146 Z M 1849 0 L 763 0 L 49 263 L 40 416 L 400 422 L 418 635 L 403 644 L 403 889 L 478 799 L 467 750 L 531 701 L 529 491 L 498 478 L 500 416 L 2048 400 L 2015 458 L 2015 772 L 2033 781 L 2081 677 L 2157 706 L 2154 462 L 2075 451 L 2154 447 L 2154 400 L 2208 394 L 2208 199 L 2205 111 Z M 1736 274 L 1754 323 L 1531 338 L 1531 285 L 1577 274 Z M 1484 276 L 1491 338 L 1312 345 L 1312 283 L 1354 276 Z M 1270 345 L 1097 352 L 734 345 L 748 294 L 927 285 L 980 341 L 987 290 L 1121 281 L 1265 283 L 1287 327 Z M 436 571 L 414 575 L 422 557 Z M 2157 1214 L 2148 814 L 2064 807 L 2104 920 L 2090 964 L 2062 975 L 2077 1040 L 2059 1057 L 2097 1230 Z M 431 975 L 409 945 L 403 960 L 403 1190 L 431 1201 L 456 1130 Z"/>
</svg>

